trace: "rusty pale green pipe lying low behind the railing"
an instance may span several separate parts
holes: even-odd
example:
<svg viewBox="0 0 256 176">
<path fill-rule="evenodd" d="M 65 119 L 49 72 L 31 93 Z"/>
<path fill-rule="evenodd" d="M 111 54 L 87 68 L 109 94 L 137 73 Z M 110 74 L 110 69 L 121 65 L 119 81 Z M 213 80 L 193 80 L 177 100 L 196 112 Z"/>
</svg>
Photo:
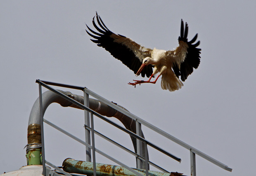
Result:
<svg viewBox="0 0 256 176">
<path fill-rule="evenodd" d="M 62 164 L 62 169 L 69 173 L 76 173 L 76 174 L 85 174 L 85 175 L 93 175 L 93 163 L 86 162 L 86 161 L 79 161 L 73 160 L 71 158 L 67 158 L 64 160 Z M 140 174 L 146 175 L 144 169 L 134 169 L 139 171 Z M 164 173 L 158 171 L 149 171 L 149 176 L 174 176 L 175 174 L 180 173 Z M 97 176 L 136 176 L 133 172 L 129 171 L 128 169 L 110 165 L 110 164 L 100 164 L 96 163 L 96 175 Z M 182 174 L 180 174 L 182 175 Z"/>
</svg>

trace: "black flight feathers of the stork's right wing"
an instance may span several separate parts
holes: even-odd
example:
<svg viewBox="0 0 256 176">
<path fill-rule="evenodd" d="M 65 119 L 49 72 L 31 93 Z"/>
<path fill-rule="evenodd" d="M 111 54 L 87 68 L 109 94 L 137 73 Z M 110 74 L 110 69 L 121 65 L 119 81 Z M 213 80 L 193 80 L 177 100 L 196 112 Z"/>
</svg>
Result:
<svg viewBox="0 0 256 176">
<path fill-rule="evenodd" d="M 173 66 L 173 71 L 177 77 L 180 76 L 182 81 L 185 81 L 193 72 L 193 68 L 197 69 L 200 63 L 200 54 L 201 49 L 197 48 L 200 44 L 198 41 L 196 44 L 193 44 L 197 40 L 197 34 L 191 41 L 187 41 L 187 33 L 188 33 L 188 25 L 185 24 L 185 32 L 184 32 L 184 24 L 183 20 L 181 20 L 181 27 L 180 27 L 180 37 L 178 38 L 179 41 L 186 42 L 188 45 L 187 48 L 187 55 L 185 60 L 180 64 L 180 69 L 177 65 Z"/>
</svg>

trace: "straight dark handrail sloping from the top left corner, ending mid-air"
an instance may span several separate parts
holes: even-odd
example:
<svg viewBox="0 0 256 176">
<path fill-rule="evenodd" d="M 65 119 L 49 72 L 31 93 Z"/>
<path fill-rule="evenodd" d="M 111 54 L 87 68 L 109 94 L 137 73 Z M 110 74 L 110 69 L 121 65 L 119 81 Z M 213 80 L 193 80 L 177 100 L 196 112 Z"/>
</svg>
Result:
<svg viewBox="0 0 256 176">
<path fill-rule="evenodd" d="M 126 132 L 126 133 L 129 134 L 130 136 L 133 136 L 133 137 L 135 137 L 135 138 L 141 140 L 142 142 L 147 142 L 147 145 L 151 146 L 152 148 L 155 148 L 156 150 L 159 150 L 161 153 L 164 153 L 165 155 L 167 155 L 167 156 L 173 158 L 174 160 L 176 160 L 176 161 L 178 161 L 178 162 L 181 162 L 181 159 L 180 159 L 180 158 L 178 158 L 178 157 L 176 157 L 175 155 L 173 155 L 173 154 L 167 152 L 166 150 L 164 150 L 164 149 L 158 147 L 157 145 L 154 145 L 153 143 L 151 143 L 150 141 L 146 140 L 145 138 L 142 138 L 142 137 L 138 136 L 137 134 L 133 133 L 132 131 L 130 131 L 130 130 L 126 129 L 126 128 L 121 127 L 119 124 L 116 124 L 115 122 L 113 122 L 113 121 L 107 119 L 106 117 L 100 115 L 99 113 L 95 112 L 94 110 L 92 110 L 92 109 L 90 109 L 90 108 L 84 106 L 83 104 L 79 103 L 78 101 L 75 101 L 75 100 L 71 99 L 69 96 L 66 96 L 65 94 L 62 94 L 61 92 L 59 92 L 59 91 L 57 91 L 56 89 L 54 89 L 54 88 L 48 86 L 48 85 L 45 84 L 44 82 L 41 82 L 40 80 L 38 80 L 38 82 L 40 82 L 43 87 L 45 87 L 45 88 L 51 90 L 52 92 L 55 92 L 56 94 L 58 94 L 58 95 L 61 96 L 62 98 L 69 100 L 71 103 L 75 104 L 76 106 L 79 106 L 80 108 L 89 111 L 90 113 L 92 113 L 93 115 L 99 117 L 100 119 L 104 120 L 105 122 L 108 122 L 109 124 L 111 124 L 111 125 L 117 127 L 118 129 L 121 129 L 122 131 Z M 114 104 L 114 103 L 112 103 L 112 104 Z"/>
</svg>

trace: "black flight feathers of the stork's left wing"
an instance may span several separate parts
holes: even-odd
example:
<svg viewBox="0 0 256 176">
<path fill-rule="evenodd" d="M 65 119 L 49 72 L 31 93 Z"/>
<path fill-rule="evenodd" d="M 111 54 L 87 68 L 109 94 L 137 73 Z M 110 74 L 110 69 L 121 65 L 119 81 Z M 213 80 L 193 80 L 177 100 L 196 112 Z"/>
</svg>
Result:
<svg viewBox="0 0 256 176">
<path fill-rule="evenodd" d="M 128 68 L 134 71 L 136 74 L 138 69 L 140 68 L 142 61 L 135 55 L 135 53 L 129 49 L 126 45 L 123 45 L 118 42 L 114 42 L 114 38 L 111 37 L 112 33 L 103 23 L 102 19 L 100 16 L 98 16 L 96 12 L 96 20 L 97 24 L 95 23 L 95 16 L 92 19 L 92 24 L 95 27 L 95 29 L 99 32 L 95 32 L 92 29 L 90 29 L 87 25 L 88 30 L 97 35 L 93 35 L 90 32 L 86 30 L 86 32 L 92 37 L 95 38 L 96 40 L 92 40 L 92 42 L 97 43 L 97 46 L 103 47 L 106 49 L 112 56 L 114 56 L 116 59 L 122 61 L 123 64 L 125 64 Z M 120 37 L 126 38 L 123 35 L 119 35 Z M 141 76 L 145 77 L 150 77 L 153 73 L 152 65 L 146 66 L 141 72 Z"/>
</svg>

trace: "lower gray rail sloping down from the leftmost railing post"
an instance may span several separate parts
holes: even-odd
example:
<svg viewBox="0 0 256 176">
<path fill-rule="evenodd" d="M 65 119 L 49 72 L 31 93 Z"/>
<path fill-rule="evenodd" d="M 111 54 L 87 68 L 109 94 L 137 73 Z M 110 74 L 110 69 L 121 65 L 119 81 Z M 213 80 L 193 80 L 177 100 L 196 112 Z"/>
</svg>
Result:
<svg viewBox="0 0 256 176">
<path fill-rule="evenodd" d="M 67 131 L 65 131 L 64 129 L 58 127 L 57 125 L 53 124 L 52 122 L 49 122 L 49 121 L 46 120 L 46 119 L 43 119 L 43 121 L 44 121 L 45 123 L 49 124 L 51 127 L 55 128 L 55 129 L 57 129 L 57 130 L 59 130 L 59 131 L 62 132 L 63 134 L 66 134 L 67 136 L 69 136 L 69 137 L 73 138 L 74 140 L 78 141 L 79 143 L 81 143 L 81 144 L 87 146 L 88 148 L 92 149 L 92 145 L 89 145 L 88 143 L 85 143 L 85 141 L 83 141 L 83 140 L 77 138 L 76 136 L 70 134 L 69 132 L 67 132 Z M 111 156 L 107 155 L 106 153 L 102 152 L 101 150 L 95 148 L 95 152 L 99 153 L 100 155 L 102 155 L 102 156 L 104 156 L 104 157 L 107 157 L 109 160 L 111 160 L 111 161 L 113 161 L 113 162 L 119 164 L 120 166 L 122 166 L 122 167 L 128 169 L 129 171 L 133 172 L 134 174 L 136 174 L 136 175 L 138 175 L 138 176 L 143 176 L 143 175 L 140 174 L 138 171 L 131 169 L 131 168 L 128 167 L 126 164 L 123 164 L 122 162 L 120 162 L 120 161 L 114 159 L 113 157 L 111 157 Z M 46 163 L 46 162 L 45 162 L 45 163 Z M 48 164 L 48 163 L 46 163 L 46 164 Z M 48 164 L 48 165 L 49 165 L 49 164 Z"/>
</svg>

